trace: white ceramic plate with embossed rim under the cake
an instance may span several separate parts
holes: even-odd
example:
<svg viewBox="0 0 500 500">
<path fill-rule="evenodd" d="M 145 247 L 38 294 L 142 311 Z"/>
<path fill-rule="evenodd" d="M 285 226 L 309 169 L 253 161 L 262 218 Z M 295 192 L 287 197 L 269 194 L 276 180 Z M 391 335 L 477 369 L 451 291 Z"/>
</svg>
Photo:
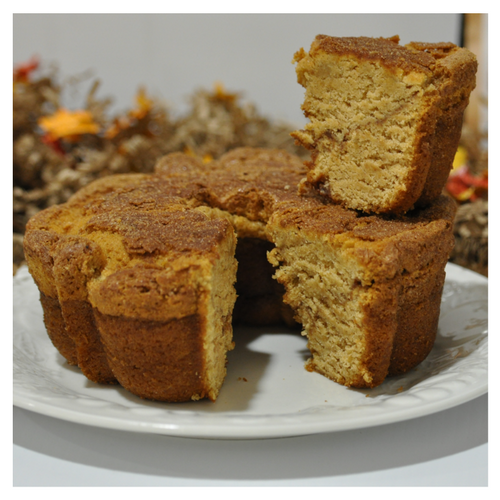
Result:
<svg viewBox="0 0 500 500">
<path fill-rule="evenodd" d="M 50 343 L 26 268 L 14 278 L 14 404 L 80 424 L 198 438 L 270 438 L 371 427 L 462 404 L 488 389 L 488 281 L 449 264 L 429 357 L 372 390 L 304 369 L 306 340 L 284 328 L 238 328 L 216 403 L 143 401 L 89 382 Z"/>
</svg>

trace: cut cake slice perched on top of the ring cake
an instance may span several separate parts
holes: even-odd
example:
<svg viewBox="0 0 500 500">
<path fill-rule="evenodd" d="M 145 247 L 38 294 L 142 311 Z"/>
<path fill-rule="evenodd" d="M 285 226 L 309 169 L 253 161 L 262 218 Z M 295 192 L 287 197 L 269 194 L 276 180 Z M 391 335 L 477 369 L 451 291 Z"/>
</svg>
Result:
<svg viewBox="0 0 500 500">
<path fill-rule="evenodd" d="M 309 119 L 307 181 L 335 203 L 404 213 L 437 199 L 451 169 L 477 62 L 451 43 L 318 35 L 294 57 Z"/>
</svg>

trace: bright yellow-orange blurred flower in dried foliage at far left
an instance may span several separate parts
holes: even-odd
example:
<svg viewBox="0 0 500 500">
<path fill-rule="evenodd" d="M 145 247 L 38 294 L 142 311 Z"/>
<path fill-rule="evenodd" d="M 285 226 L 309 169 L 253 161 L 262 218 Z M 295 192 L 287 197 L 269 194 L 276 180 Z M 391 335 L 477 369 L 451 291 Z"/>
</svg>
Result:
<svg viewBox="0 0 500 500">
<path fill-rule="evenodd" d="M 92 113 L 85 110 L 68 111 L 58 109 L 51 116 L 44 116 L 38 124 L 52 140 L 67 139 L 77 140 L 82 134 L 97 134 L 99 125 L 94 122 Z"/>
</svg>

